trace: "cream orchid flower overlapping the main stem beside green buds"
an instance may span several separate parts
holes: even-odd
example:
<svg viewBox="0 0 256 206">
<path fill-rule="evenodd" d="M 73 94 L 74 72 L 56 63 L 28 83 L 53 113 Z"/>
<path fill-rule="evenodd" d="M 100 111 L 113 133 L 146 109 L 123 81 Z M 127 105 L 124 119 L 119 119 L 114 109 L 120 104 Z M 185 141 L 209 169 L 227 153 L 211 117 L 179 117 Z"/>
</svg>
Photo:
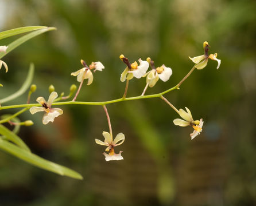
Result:
<svg viewBox="0 0 256 206">
<path fill-rule="evenodd" d="M 38 97 L 37 102 L 42 106 L 32 106 L 29 109 L 30 113 L 34 114 L 37 112 L 45 112 L 42 117 L 42 124 L 48 124 L 50 121 L 53 122 L 55 117 L 63 114 L 63 110 L 59 108 L 51 108 L 52 102 L 58 97 L 57 92 L 52 92 L 49 96 L 48 101 L 46 102 L 44 97 Z"/>
</svg>

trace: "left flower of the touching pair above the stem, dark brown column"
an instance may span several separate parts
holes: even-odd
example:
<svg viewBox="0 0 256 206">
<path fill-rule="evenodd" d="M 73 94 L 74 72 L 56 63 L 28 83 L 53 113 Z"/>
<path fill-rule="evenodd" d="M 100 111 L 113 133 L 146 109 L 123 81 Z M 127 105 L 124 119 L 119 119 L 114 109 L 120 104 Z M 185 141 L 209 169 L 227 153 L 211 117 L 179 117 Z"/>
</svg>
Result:
<svg viewBox="0 0 256 206">
<path fill-rule="evenodd" d="M 127 66 L 125 70 L 123 70 L 121 74 L 121 82 L 124 82 L 125 80 L 131 80 L 133 77 L 141 78 L 144 74 L 146 74 L 146 71 L 149 68 L 149 63 L 147 61 L 141 60 L 139 58 L 139 65 L 137 61 L 133 62 L 133 64 L 130 64 L 129 60 L 121 54 L 119 57 Z"/>
</svg>

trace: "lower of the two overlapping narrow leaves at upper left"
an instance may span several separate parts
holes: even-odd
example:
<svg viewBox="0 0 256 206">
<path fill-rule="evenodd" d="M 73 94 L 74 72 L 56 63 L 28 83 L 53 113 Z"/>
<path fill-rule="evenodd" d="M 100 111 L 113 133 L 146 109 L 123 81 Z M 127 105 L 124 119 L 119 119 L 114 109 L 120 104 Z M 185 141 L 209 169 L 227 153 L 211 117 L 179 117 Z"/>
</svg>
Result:
<svg viewBox="0 0 256 206">
<path fill-rule="evenodd" d="M 6 56 L 6 54 L 8 54 L 10 51 L 12 51 L 13 49 L 15 49 L 17 46 L 20 46 L 22 43 L 28 41 L 29 39 L 36 37 L 37 35 L 40 35 L 42 33 L 45 33 L 46 31 L 51 31 L 51 30 L 56 30 L 55 27 L 46 27 L 45 29 L 39 29 L 36 31 L 32 31 L 29 34 L 24 35 L 23 37 L 18 38 L 17 40 L 11 42 L 8 45 L 8 48 L 6 49 L 5 53 L 1 53 L 0 54 L 0 59 L 4 56 Z"/>
</svg>

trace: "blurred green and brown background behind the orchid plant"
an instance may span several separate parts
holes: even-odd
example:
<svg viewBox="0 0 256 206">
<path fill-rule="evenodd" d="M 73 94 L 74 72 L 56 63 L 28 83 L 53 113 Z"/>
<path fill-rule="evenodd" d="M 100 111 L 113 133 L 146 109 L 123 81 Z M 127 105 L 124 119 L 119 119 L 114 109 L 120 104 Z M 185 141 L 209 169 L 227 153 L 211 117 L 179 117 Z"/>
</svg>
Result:
<svg viewBox="0 0 256 206">
<path fill-rule="evenodd" d="M 107 105 L 113 133 L 123 132 L 118 146 L 123 161 L 106 162 L 103 139 L 108 130 L 101 106 L 62 106 L 64 114 L 42 125 L 40 113 L 21 120 L 35 124 L 20 136 L 45 159 L 75 169 L 83 181 L 43 171 L 1 152 L 1 205 L 256 205 L 256 2 L 253 0 L 1 0 L 0 30 L 55 26 L 18 47 L 1 70 L 0 97 L 15 92 L 30 62 L 38 96 L 48 97 L 53 84 L 59 94 L 79 85 L 71 72 L 101 61 L 90 86 L 78 101 L 105 101 L 122 96 L 119 81 L 125 54 L 131 62 L 150 56 L 156 65 L 173 69 L 168 82 L 158 81 L 146 94 L 176 85 L 193 64 L 188 56 L 203 54 L 203 42 L 222 60 L 209 61 L 181 86 L 165 95 L 177 108 L 187 106 L 204 119 L 200 136 L 173 124 L 177 114 L 160 99 Z M 6 45 L 14 38 L 1 41 Z M 127 96 L 142 93 L 145 79 L 130 81 Z M 9 104 L 26 102 L 26 95 Z M 16 110 L 1 111 L 1 114 Z"/>
</svg>

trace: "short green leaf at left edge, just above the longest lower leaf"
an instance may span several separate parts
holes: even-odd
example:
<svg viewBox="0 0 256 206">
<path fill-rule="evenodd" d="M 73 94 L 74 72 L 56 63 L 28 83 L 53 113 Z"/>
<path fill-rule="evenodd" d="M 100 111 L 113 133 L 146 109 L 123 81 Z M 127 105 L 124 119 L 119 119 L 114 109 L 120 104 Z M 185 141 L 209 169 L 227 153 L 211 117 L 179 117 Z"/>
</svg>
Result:
<svg viewBox="0 0 256 206">
<path fill-rule="evenodd" d="M 23 140 L 21 140 L 20 137 L 18 137 L 15 133 L 11 132 L 9 129 L 7 129 L 5 126 L 0 124 L 0 134 L 5 136 L 6 140 L 12 141 L 13 143 L 20 146 L 22 149 L 30 152 L 30 149 L 25 144 Z"/>
</svg>

